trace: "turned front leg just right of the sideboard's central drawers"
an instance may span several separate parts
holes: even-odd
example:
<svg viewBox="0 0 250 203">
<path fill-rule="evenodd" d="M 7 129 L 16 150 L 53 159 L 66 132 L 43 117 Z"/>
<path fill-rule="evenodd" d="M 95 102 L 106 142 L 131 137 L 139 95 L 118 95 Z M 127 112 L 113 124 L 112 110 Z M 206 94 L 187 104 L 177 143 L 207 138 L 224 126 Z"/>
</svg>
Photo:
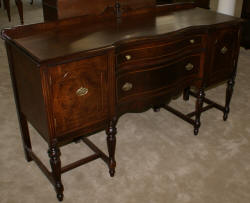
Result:
<svg viewBox="0 0 250 203">
<path fill-rule="evenodd" d="M 194 135 L 198 135 L 199 128 L 201 126 L 200 116 L 201 116 L 201 110 L 203 106 L 203 100 L 205 97 L 204 89 L 200 89 L 198 92 L 198 97 L 196 100 L 196 106 L 195 106 L 195 124 L 194 124 Z"/>
</svg>

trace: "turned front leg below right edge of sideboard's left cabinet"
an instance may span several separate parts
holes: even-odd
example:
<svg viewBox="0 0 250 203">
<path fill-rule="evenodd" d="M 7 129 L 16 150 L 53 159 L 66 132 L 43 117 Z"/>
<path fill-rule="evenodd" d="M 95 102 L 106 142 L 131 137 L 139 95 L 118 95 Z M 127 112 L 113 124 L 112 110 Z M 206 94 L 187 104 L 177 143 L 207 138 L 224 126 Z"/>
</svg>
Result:
<svg viewBox="0 0 250 203">
<path fill-rule="evenodd" d="M 109 126 L 106 130 L 107 134 L 107 145 L 109 152 L 109 174 L 111 177 L 115 175 L 115 147 L 116 147 L 116 119 L 113 119 L 109 122 Z"/>
</svg>

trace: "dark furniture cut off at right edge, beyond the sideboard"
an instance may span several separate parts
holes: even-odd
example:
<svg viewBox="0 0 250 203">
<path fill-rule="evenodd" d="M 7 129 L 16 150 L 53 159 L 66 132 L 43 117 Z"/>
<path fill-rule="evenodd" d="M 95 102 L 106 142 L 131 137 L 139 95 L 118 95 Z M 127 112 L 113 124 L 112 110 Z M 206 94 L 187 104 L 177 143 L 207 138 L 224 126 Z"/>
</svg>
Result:
<svg viewBox="0 0 250 203">
<path fill-rule="evenodd" d="M 246 20 L 242 30 L 241 45 L 250 49 L 250 0 L 243 1 L 241 17 Z"/>
</svg>

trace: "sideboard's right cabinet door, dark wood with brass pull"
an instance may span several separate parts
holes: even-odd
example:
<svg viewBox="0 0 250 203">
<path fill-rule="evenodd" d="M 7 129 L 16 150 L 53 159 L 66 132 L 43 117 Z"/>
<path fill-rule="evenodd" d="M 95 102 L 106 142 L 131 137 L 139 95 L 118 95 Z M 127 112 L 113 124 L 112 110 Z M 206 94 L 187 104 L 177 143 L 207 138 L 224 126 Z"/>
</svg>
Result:
<svg viewBox="0 0 250 203">
<path fill-rule="evenodd" d="M 233 71 L 234 52 L 237 48 L 237 30 L 223 29 L 217 31 L 212 53 L 210 84 L 227 80 Z"/>
</svg>

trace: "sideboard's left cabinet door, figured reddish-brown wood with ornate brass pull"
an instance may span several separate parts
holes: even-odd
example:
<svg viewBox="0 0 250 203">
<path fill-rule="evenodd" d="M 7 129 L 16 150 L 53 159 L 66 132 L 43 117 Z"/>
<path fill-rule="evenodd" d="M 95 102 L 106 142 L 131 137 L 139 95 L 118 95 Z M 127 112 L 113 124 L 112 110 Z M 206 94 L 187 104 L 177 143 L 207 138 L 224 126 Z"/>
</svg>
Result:
<svg viewBox="0 0 250 203">
<path fill-rule="evenodd" d="M 57 135 L 91 126 L 106 118 L 107 69 L 106 56 L 52 68 L 52 108 Z"/>
</svg>

